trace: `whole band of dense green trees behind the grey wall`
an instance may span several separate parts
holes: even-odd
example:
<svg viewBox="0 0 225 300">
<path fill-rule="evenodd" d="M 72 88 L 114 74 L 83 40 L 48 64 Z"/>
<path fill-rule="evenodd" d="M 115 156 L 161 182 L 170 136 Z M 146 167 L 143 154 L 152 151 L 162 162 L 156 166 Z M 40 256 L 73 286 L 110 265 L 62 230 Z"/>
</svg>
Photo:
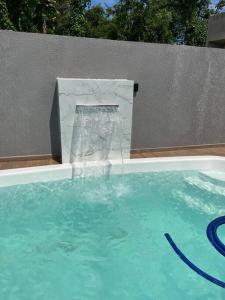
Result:
<svg viewBox="0 0 225 300">
<path fill-rule="evenodd" d="M 210 0 L 0 0 L 0 28 L 95 38 L 205 45 Z M 223 7 L 220 0 L 217 8 Z"/>
</svg>

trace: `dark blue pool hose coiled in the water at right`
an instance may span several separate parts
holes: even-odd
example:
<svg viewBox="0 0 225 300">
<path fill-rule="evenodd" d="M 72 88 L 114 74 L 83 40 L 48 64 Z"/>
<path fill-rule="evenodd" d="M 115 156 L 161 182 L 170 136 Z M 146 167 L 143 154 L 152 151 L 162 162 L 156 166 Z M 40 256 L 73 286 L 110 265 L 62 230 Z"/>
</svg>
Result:
<svg viewBox="0 0 225 300">
<path fill-rule="evenodd" d="M 221 242 L 221 240 L 218 238 L 217 235 L 217 229 L 219 226 L 225 224 L 225 216 L 216 218 L 215 220 L 213 220 L 212 222 L 209 223 L 208 227 L 207 227 L 207 237 L 209 239 L 209 241 L 212 243 L 212 245 L 216 248 L 216 250 L 222 254 L 223 256 L 225 256 L 225 245 Z M 181 250 L 176 246 L 175 242 L 173 241 L 173 239 L 171 238 L 171 236 L 169 235 L 169 233 L 165 233 L 165 237 L 167 239 L 167 241 L 169 242 L 169 244 L 171 245 L 171 247 L 173 248 L 173 250 L 175 251 L 175 253 L 180 257 L 180 259 L 186 264 L 188 265 L 193 271 L 195 271 L 197 274 L 199 274 L 200 276 L 204 277 L 205 279 L 211 281 L 212 283 L 225 288 L 225 282 L 216 279 L 215 277 L 205 273 L 204 271 L 202 271 L 201 269 L 199 269 L 196 265 L 194 265 L 182 252 Z"/>
</svg>

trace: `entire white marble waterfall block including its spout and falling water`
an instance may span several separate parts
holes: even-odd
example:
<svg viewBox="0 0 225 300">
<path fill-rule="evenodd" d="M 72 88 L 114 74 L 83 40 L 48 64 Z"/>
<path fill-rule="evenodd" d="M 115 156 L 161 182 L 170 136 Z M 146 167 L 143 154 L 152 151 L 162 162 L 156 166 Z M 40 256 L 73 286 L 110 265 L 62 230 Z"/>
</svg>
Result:
<svg viewBox="0 0 225 300">
<path fill-rule="evenodd" d="M 134 82 L 58 78 L 62 162 L 130 157 Z"/>
</svg>

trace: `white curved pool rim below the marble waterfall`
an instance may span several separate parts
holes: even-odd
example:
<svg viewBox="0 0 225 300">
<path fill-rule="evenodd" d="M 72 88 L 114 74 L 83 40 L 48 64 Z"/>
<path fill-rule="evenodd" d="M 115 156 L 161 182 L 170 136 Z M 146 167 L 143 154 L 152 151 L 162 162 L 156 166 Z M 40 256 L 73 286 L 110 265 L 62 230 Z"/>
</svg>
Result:
<svg viewBox="0 0 225 300">
<path fill-rule="evenodd" d="M 102 174 L 102 170 L 107 175 L 182 170 L 225 172 L 225 157 L 179 156 L 126 159 L 123 167 L 121 160 L 113 160 L 105 164 L 82 162 L 0 170 L 0 187 L 96 176 L 98 172 Z"/>
</svg>

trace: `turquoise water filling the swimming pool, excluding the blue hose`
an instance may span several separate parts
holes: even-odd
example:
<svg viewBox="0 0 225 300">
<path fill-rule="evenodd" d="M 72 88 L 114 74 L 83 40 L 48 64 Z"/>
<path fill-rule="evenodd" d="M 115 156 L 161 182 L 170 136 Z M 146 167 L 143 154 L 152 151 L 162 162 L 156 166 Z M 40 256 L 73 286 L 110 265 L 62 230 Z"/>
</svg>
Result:
<svg viewBox="0 0 225 300">
<path fill-rule="evenodd" d="M 206 237 L 220 215 L 225 183 L 196 172 L 1 188 L 0 299 L 225 299 L 164 237 L 225 281 L 225 258 Z"/>
</svg>

